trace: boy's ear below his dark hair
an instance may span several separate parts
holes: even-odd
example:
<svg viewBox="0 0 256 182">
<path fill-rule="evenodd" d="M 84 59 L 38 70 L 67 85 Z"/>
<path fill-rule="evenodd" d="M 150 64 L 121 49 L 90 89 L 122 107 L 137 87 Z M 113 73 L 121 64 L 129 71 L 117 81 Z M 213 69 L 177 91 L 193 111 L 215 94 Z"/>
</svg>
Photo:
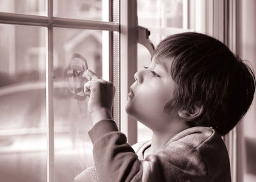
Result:
<svg viewBox="0 0 256 182">
<path fill-rule="evenodd" d="M 198 118 L 199 116 L 202 115 L 203 113 L 203 106 L 202 105 L 194 105 L 193 109 L 180 109 L 178 110 L 178 114 L 180 116 L 180 118 L 184 118 L 184 119 L 195 119 Z"/>
</svg>

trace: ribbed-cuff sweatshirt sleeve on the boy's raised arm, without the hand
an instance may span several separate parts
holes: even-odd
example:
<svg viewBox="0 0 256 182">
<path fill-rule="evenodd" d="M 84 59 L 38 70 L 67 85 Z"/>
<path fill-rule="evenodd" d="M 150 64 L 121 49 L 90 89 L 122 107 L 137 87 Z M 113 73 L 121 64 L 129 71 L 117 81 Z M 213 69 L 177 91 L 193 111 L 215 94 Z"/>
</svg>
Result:
<svg viewBox="0 0 256 182">
<path fill-rule="evenodd" d="M 93 158 L 101 181 L 141 181 L 142 167 L 138 156 L 115 121 L 104 119 L 89 131 Z"/>
</svg>

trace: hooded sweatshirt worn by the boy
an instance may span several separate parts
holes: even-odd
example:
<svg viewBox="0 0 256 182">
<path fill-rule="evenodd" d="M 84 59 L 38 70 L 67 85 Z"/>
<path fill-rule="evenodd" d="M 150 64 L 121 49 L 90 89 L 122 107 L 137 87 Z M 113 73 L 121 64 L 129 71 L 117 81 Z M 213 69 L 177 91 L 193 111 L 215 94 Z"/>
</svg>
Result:
<svg viewBox="0 0 256 182">
<path fill-rule="evenodd" d="M 156 155 L 146 158 L 143 153 L 151 141 L 131 147 L 111 119 L 99 121 L 88 133 L 95 162 L 90 171 L 97 175 L 92 181 L 231 181 L 227 148 L 211 127 L 177 133 Z"/>
</svg>

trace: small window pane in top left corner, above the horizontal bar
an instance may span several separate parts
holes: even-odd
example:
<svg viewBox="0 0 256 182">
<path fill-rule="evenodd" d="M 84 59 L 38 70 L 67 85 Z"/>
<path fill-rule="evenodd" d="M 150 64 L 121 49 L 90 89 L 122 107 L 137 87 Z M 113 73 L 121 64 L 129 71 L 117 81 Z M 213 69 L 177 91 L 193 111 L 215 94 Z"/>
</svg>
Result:
<svg viewBox="0 0 256 182">
<path fill-rule="evenodd" d="M 45 0 L 0 0 L 0 11 L 44 16 Z"/>
</svg>

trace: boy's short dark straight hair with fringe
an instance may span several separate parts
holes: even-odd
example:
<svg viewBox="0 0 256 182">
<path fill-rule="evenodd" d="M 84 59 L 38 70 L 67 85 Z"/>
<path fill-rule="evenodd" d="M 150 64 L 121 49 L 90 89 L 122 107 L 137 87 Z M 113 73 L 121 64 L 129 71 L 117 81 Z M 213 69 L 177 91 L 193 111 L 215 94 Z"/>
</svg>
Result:
<svg viewBox="0 0 256 182">
<path fill-rule="evenodd" d="M 243 118 L 255 91 L 252 69 L 219 40 L 200 33 L 173 34 L 157 46 L 155 59 L 172 61 L 173 98 L 164 112 L 176 107 L 203 107 L 195 126 L 212 126 L 225 135 Z"/>
</svg>

